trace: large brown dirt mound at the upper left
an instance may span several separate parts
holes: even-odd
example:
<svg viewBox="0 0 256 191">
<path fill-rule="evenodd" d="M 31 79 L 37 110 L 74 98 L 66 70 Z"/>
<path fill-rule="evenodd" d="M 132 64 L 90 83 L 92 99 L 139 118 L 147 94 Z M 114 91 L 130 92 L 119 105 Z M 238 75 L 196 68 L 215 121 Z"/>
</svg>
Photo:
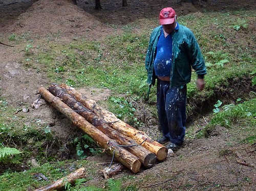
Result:
<svg viewBox="0 0 256 191">
<path fill-rule="evenodd" d="M 72 2 L 39 0 L 26 12 L 20 14 L 14 24 L 7 28 L 7 31 L 15 34 L 30 33 L 37 36 L 58 34 L 70 37 L 90 36 L 91 30 L 104 31 L 106 28 L 104 23 L 95 16 Z M 100 33 L 97 35 L 97 38 L 99 37 Z"/>
</svg>

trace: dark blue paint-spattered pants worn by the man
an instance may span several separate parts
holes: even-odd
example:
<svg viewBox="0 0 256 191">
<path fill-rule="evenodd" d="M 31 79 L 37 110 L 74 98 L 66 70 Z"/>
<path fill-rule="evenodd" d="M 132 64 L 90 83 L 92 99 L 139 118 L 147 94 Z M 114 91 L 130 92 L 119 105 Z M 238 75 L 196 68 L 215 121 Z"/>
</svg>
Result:
<svg viewBox="0 0 256 191">
<path fill-rule="evenodd" d="M 186 85 L 170 88 L 170 82 L 157 80 L 159 125 L 163 136 L 175 144 L 181 144 L 185 136 L 186 94 Z"/>
</svg>

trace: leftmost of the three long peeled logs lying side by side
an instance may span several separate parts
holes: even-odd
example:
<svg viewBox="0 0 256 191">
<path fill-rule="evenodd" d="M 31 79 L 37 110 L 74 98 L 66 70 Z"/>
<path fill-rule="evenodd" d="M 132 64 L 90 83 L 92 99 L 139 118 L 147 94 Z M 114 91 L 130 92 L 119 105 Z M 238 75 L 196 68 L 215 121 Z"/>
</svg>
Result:
<svg viewBox="0 0 256 191">
<path fill-rule="evenodd" d="M 46 88 L 40 87 L 39 93 L 41 97 L 49 102 L 54 108 L 64 114 L 75 126 L 83 130 L 106 152 L 115 155 L 117 161 L 122 163 L 127 169 L 134 173 L 138 173 L 141 163 L 139 158 L 118 146 L 116 140 L 113 140 L 95 128 L 92 124 L 84 119 L 81 115 L 73 111 L 69 106 L 63 103 L 59 98 L 56 98 Z"/>
</svg>

